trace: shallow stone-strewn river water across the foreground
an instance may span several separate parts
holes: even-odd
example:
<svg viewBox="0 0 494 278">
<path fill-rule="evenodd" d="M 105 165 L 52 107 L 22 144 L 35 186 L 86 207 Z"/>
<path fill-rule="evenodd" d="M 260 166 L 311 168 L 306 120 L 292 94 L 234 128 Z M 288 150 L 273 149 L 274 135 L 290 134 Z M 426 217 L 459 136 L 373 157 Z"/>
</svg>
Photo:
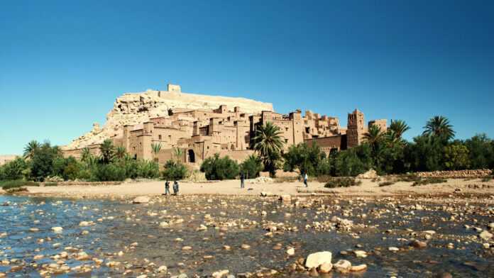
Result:
<svg viewBox="0 0 494 278">
<path fill-rule="evenodd" d="M 493 221 L 492 208 L 483 204 L 423 204 L 423 210 L 415 210 L 414 202 L 398 204 L 396 200 L 349 203 L 307 198 L 294 206 L 293 202 L 282 204 L 258 197 L 178 196 L 135 205 L 0 196 L 0 204 L 4 203 L 9 205 L 0 206 L 0 260 L 10 264 L 0 263 L 0 272 L 12 277 L 39 277 L 57 262 L 61 277 L 159 276 L 163 272 L 157 269 L 162 265 L 173 275 L 184 272 L 202 277 L 220 269 L 237 274 L 266 268 L 283 277 L 302 277 L 307 274 L 292 272 L 290 265 L 323 250 L 333 252 L 333 262 L 344 259 L 353 265 L 368 265 L 365 272 L 333 271 L 326 277 L 434 277 L 444 271 L 454 277 L 494 277 L 492 248 L 483 248 L 478 232 L 463 226 L 485 228 Z M 354 225 L 350 230 L 324 227 L 324 223 L 334 223 L 333 216 Z M 456 221 L 450 221 L 451 216 Z M 182 223 L 176 223 L 180 219 Z M 81 221 L 93 221 L 94 225 L 81 227 Z M 160 226 L 163 222 L 170 224 Z M 207 230 L 197 230 L 201 224 L 208 226 Z M 62 233 L 53 232 L 56 226 L 63 228 Z M 278 226 L 278 230 L 269 236 L 266 226 Z M 83 234 L 84 230 L 89 233 Z M 425 230 L 436 234 L 426 240 Z M 428 241 L 427 248 L 409 248 L 414 238 Z M 448 243 L 453 243 L 454 249 L 447 248 Z M 242 249 L 242 244 L 250 248 Z M 184 246 L 192 250 L 182 250 Z M 391 246 L 401 250 L 390 252 Z M 77 250 L 65 250 L 69 247 Z M 294 256 L 287 255 L 288 247 L 295 248 Z M 345 250 L 347 254 L 341 254 Z M 351 250 L 365 250 L 368 257 L 356 257 Z M 64 251 L 70 254 L 66 259 L 53 258 Z M 102 263 L 77 260 L 82 251 Z M 123 254 L 118 255 L 120 251 Z M 35 255 L 45 257 L 34 260 Z M 108 262 L 121 265 L 107 267 Z M 60 271 L 60 266 L 67 271 Z"/>
</svg>

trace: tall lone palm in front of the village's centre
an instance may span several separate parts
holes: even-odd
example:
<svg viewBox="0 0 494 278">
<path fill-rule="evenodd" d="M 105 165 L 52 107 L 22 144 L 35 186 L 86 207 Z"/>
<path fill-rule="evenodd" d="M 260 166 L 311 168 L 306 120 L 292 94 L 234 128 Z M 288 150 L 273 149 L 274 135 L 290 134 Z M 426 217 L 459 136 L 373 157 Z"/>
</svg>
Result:
<svg viewBox="0 0 494 278">
<path fill-rule="evenodd" d="M 264 165 L 270 172 L 274 172 L 275 162 L 280 159 L 280 152 L 283 148 L 280 127 L 271 122 L 267 122 L 264 126 L 259 126 L 253 142 L 253 149 L 258 152 Z"/>
</svg>

